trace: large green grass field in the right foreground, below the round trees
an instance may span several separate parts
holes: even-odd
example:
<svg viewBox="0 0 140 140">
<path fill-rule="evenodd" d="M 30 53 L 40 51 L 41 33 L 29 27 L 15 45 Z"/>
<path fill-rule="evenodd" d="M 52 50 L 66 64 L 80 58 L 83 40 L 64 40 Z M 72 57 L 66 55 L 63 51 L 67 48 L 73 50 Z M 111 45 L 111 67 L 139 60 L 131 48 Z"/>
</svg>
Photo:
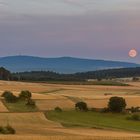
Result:
<svg viewBox="0 0 140 140">
<path fill-rule="evenodd" d="M 45 113 L 50 120 L 57 121 L 65 127 L 89 127 L 121 129 L 140 132 L 140 121 L 127 120 L 129 115 L 97 113 L 97 112 L 77 112 L 63 111 L 61 113 L 49 111 Z"/>
</svg>

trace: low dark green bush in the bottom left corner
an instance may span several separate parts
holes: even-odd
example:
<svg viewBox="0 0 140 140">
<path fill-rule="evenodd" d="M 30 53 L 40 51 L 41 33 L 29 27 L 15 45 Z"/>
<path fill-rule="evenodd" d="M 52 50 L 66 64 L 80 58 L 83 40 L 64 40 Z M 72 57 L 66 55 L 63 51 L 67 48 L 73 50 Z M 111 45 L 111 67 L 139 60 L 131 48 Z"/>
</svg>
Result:
<svg viewBox="0 0 140 140">
<path fill-rule="evenodd" d="M 16 131 L 14 128 L 12 128 L 10 125 L 7 125 L 5 127 L 0 126 L 0 134 L 15 134 Z"/>
</svg>

